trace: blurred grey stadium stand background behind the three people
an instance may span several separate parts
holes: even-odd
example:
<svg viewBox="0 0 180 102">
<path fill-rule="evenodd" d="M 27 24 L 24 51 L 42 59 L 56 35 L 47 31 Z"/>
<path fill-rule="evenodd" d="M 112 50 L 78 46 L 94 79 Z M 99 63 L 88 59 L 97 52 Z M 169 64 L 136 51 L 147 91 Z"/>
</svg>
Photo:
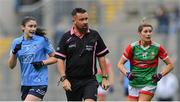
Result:
<svg viewBox="0 0 180 102">
<path fill-rule="evenodd" d="M 12 39 L 22 35 L 22 18 L 36 17 L 39 26 L 47 29 L 47 36 L 56 48 L 62 34 L 71 27 L 71 11 L 75 7 L 87 9 L 90 27 L 100 32 L 110 50 L 107 57 L 113 64 L 115 84 L 107 100 L 125 100 L 117 62 L 124 47 L 139 39 L 137 28 L 143 18 L 154 26 L 153 39 L 168 50 L 175 65 L 172 73 L 180 80 L 180 0 L 0 0 L 0 101 L 20 100 L 19 66 L 10 70 L 7 59 Z M 159 69 L 162 67 L 160 63 Z M 49 66 L 45 101 L 66 100 L 64 90 L 57 86 L 58 80 L 56 66 Z M 170 85 L 160 95 L 168 97 L 174 88 Z M 178 101 L 180 90 L 174 90 L 173 100 Z M 158 94 L 153 100 L 158 99 Z"/>
</svg>

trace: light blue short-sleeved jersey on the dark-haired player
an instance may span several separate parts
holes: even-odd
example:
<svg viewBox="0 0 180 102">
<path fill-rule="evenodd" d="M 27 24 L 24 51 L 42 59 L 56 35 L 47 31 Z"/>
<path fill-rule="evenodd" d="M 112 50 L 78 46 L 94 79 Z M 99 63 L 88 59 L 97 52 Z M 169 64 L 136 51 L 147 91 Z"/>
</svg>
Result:
<svg viewBox="0 0 180 102">
<path fill-rule="evenodd" d="M 47 54 L 54 52 L 52 44 L 41 36 L 33 35 L 28 40 L 25 40 L 24 36 L 21 36 L 13 41 L 11 51 L 20 42 L 22 42 L 21 50 L 18 51 L 16 56 L 21 66 L 21 85 L 48 85 L 47 66 L 36 70 L 31 62 L 46 60 Z"/>
</svg>

